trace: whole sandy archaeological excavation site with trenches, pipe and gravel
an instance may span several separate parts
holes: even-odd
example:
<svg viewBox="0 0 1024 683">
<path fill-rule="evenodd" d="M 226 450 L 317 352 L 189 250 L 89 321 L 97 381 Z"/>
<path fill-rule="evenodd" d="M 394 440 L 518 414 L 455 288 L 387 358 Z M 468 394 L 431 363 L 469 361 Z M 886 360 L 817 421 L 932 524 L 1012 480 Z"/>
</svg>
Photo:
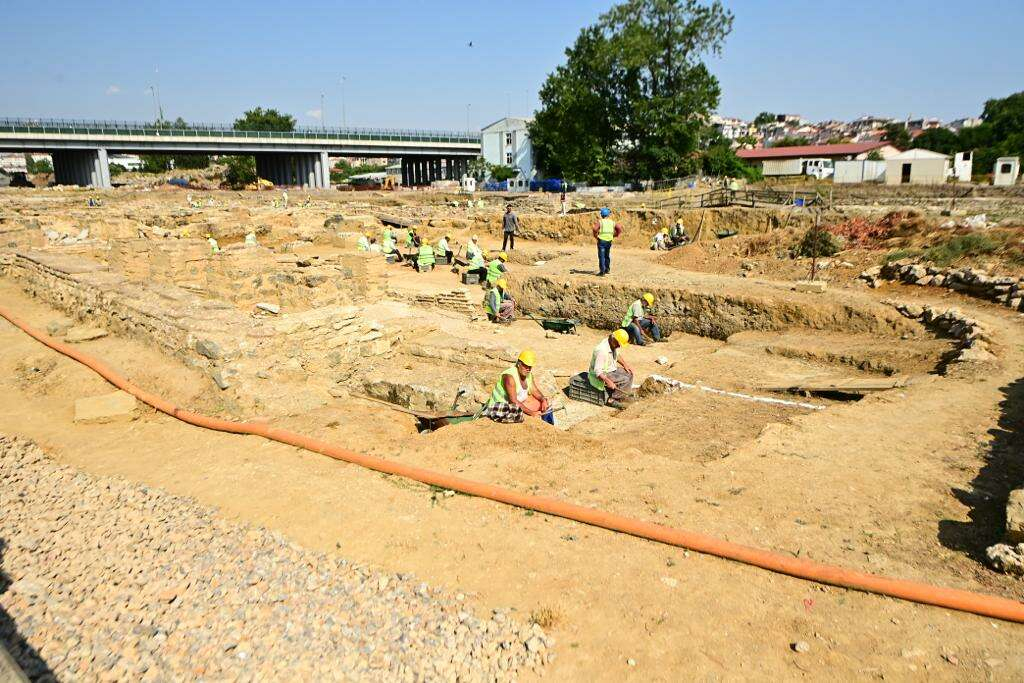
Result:
<svg viewBox="0 0 1024 683">
<path fill-rule="evenodd" d="M 894 252 L 1024 201 L 883 189 L 0 190 L 0 635 L 57 680 L 1019 680 L 1024 278 Z"/>
</svg>

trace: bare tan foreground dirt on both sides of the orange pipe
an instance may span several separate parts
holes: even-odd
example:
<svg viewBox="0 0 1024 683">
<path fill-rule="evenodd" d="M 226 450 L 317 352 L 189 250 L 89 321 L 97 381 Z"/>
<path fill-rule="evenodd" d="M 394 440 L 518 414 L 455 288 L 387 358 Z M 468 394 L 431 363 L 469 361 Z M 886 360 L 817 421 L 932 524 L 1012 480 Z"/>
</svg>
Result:
<svg viewBox="0 0 1024 683">
<path fill-rule="evenodd" d="M 3 293 L 34 325 L 54 316 L 12 289 Z M 977 316 L 1002 341 L 999 374 L 934 378 L 814 415 L 751 411 L 757 426 L 738 429 L 714 458 L 706 457 L 707 435 L 745 418 L 735 405 L 692 395 L 638 405 L 590 432 L 583 425 L 553 434 L 540 425 L 473 423 L 419 436 L 391 412 L 354 404 L 292 426 L 731 541 L 1020 599 L 1022 584 L 982 566 L 976 549 L 991 533 L 986 515 L 998 493 L 986 488 L 985 470 L 1006 471 L 995 459 L 1008 458 L 1016 438 L 1008 425 L 1024 402 L 1017 377 L 1024 349 L 1015 323 L 986 311 Z M 88 472 L 194 496 L 303 546 L 458 588 L 481 609 L 515 605 L 520 617 L 532 615 L 557 638 L 553 680 L 1024 676 L 1021 626 L 439 497 L 153 413 L 129 424 L 76 425 L 74 398 L 109 387 L 6 324 L 0 346 L 0 431 L 32 437 Z M 207 383 L 141 344 L 109 337 L 87 348 L 179 400 L 216 402 L 199 393 Z M 37 356 L 51 356 L 52 368 L 19 375 L 18 364 Z M 631 428 L 644 413 L 655 421 Z M 795 652 L 796 641 L 810 650 Z"/>
</svg>

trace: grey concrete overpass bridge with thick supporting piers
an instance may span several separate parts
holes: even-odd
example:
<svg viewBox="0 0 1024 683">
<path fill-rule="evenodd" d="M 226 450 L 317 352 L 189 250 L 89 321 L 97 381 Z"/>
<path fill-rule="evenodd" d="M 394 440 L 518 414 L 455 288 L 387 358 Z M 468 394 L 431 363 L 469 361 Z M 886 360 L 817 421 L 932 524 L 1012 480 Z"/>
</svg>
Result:
<svg viewBox="0 0 1024 683">
<path fill-rule="evenodd" d="M 329 156 L 401 158 L 406 185 L 459 179 L 480 156 L 480 134 L 432 130 L 298 128 L 234 130 L 228 125 L 166 128 L 126 121 L 0 119 L 0 152 L 49 153 L 58 184 L 111 186 L 108 155 L 252 155 L 276 185 L 331 186 Z"/>
</svg>

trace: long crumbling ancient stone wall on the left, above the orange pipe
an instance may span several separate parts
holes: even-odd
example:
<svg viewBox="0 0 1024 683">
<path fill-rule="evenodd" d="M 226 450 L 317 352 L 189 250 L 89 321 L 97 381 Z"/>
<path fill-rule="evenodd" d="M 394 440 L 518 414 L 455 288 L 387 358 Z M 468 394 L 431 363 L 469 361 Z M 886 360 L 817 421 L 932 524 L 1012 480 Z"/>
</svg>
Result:
<svg viewBox="0 0 1024 683">
<path fill-rule="evenodd" d="M 276 414 L 325 403 L 337 381 L 332 371 L 387 355 L 400 339 L 355 306 L 247 313 L 172 285 L 131 282 L 74 255 L 0 253 L 0 273 L 76 319 L 203 369 L 239 405 Z"/>
</svg>

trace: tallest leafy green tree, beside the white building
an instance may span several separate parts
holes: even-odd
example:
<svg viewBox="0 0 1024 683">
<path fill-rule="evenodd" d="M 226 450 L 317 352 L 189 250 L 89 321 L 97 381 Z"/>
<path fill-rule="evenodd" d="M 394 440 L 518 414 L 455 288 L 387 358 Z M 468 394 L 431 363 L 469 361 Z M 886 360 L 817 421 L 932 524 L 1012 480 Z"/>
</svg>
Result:
<svg viewBox="0 0 1024 683">
<path fill-rule="evenodd" d="M 732 13 L 719 0 L 626 0 L 580 32 L 548 76 L 530 126 L 548 175 L 605 182 L 685 175 L 699 166 L 702 122 Z"/>
</svg>

